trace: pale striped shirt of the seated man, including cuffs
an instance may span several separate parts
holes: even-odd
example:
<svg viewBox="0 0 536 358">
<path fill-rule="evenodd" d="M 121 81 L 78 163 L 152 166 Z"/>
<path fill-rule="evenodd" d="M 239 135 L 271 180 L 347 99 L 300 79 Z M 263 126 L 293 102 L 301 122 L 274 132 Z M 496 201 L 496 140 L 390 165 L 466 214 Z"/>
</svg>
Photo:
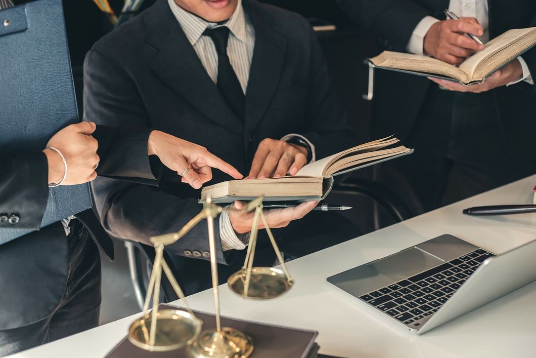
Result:
<svg viewBox="0 0 536 358">
<path fill-rule="evenodd" d="M 181 25 L 188 41 L 195 50 L 197 57 L 199 57 L 207 74 L 214 83 L 218 81 L 218 53 L 216 52 L 212 39 L 209 36 L 203 36 L 203 32 L 207 28 L 220 26 L 227 26 L 229 28 L 227 56 L 229 56 L 229 62 L 245 94 L 248 88 L 249 70 L 255 48 L 255 29 L 248 15 L 243 10 L 242 0 L 238 0 L 235 12 L 224 24 L 206 21 L 182 9 L 174 0 L 168 0 L 168 4 L 178 23 Z M 293 136 L 299 136 L 309 144 L 312 155 L 311 163 L 314 162 L 315 147 L 306 137 L 299 134 L 288 134 L 281 138 L 281 140 L 286 141 Z M 221 248 L 223 251 L 245 249 L 249 242 L 249 233 L 236 234 L 230 222 L 228 211 L 221 213 L 219 224 Z"/>
</svg>

